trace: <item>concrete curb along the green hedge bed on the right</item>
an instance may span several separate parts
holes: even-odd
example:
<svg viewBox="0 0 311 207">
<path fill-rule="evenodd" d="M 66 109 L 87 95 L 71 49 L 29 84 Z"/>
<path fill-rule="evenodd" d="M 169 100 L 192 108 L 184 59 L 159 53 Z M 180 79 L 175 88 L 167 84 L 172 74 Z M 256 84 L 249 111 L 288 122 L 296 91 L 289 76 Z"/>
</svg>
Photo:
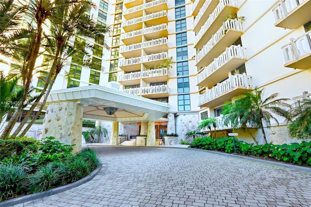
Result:
<svg viewBox="0 0 311 207">
<path fill-rule="evenodd" d="M 222 153 L 222 152 L 203 150 L 203 149 L 196 149 L 196 148 L 183 148 L 183 149 L 199 150 L 199 151 L 213 153 L 213 154 L 218 154 L 218 155 L 232 156 L 232 157 L 236 157 L 236 158 L 240 158 L 240 159 L 247 159 L 247 160 L 251 160 L 251 161 L 256 161 L 256 162 L 261 162 L 261 163 L 265 163 L 265 164 L 276 165 L 276 166 L 281 166 L 281 167 L 286 167 L 286 168 L 291 168 L 291 169 L 294 169 L 294 170 L 306 171 L 308 173 L 311 173 L 311 168 L 302 167 L 302 166 L 298 166 L 298 165 L 294 165 L 294 164 L 291 165 L 291 164 L 286 164 L 286 163 L 281 163 L 281 162 L 274 162 L 274 161 L 264 160 L 264 159 L 259 159 L 259 158 L 253 158 L 253 157 L 247 157 L 247 156 L 241 156 L 241 155 L 233 155 L 233 154 L 229 154 L 229 153 Z"/>
</svg>

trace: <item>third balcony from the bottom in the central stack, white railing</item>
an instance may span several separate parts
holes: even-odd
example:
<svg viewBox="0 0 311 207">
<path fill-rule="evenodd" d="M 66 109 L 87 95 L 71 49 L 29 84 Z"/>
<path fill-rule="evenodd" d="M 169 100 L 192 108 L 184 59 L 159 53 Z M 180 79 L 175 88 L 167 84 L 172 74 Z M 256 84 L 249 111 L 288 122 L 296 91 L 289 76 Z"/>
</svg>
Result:
<svg viewBox="0 0 311 207">
<path fill-rule="evenodd" d="M 156 54 L 144 55 L 142 57 L 132 57 L 129 59 L 120 59 L 119 67 L 124 71 L 140 70 L 140 64 L 147 67 L 156 67 L 168 58 L 167 52 L 160 52 Z"/>
</svg>

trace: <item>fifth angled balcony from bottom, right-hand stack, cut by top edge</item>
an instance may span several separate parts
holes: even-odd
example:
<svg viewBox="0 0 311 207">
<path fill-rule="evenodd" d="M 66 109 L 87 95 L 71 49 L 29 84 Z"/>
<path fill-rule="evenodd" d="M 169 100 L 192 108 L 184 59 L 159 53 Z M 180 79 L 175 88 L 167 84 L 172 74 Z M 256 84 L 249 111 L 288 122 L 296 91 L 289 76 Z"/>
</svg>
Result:
<svg viewBox="0 0 311 207">
<path fill-rule="evenodd" d="M 194 3 L 196 3 L 197 1 L 200 1 L 200 3 L 197 3 L 197 4 L 201 4 L 201 6 L 199 7 L 199 9 L 200 8 L 201 9 L 200 9 L 200 12 L 197 13 L 197 16 L 195 17 L 192 23 L 194 32 L 200 31 L 201 27 L 203 26 L 203 24 L 206 22 L 207 18 L 209 17 L 209 14 L 211 14 L 216 8 L 216 6 L 219 4 L 219 0 L 206 0 L 205 2 L 202 0 L 196 0 Z M 195 9 L 197 8 L 197 7 L 194 8 L 194 6 L 195 4 L 193 4 L 192 13 L 195 13 Z"/>
</svg>

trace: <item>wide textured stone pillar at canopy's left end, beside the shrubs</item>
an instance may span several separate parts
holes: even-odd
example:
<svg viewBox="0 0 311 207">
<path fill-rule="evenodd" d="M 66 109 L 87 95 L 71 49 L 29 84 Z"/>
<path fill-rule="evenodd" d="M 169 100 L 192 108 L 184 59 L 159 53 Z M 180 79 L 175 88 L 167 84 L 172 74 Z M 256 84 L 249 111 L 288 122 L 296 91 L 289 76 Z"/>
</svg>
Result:
<svg viewBox="0 0 311 207">
<path fill-rule="evenodd" d="M 55 137 L 64 144 L 75 144 L 73 153 L 81 151 L 83 105 L 76 101 L 49 103 L 42 125 L 41 138 Z"/>
</svg>

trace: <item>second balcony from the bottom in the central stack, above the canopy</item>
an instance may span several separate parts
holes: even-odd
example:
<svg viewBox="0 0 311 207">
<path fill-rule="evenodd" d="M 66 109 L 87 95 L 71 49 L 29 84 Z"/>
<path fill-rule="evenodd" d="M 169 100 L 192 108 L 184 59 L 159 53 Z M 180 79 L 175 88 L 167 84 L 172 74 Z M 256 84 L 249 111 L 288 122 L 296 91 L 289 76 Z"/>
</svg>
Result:
<svg viewBox="0 0 311 207">
<path fill-rule="evenodd" d="M 118 82 L 122 85 L 138 85 L 140 79 L 143 79 L 146 83 L 151 83 L 155 82 L 155 80 L 157 82 L 167 81 L 168 78 L 167 68 L 161 68 L 125 73 L 118 77 Z"/>
</svg>

